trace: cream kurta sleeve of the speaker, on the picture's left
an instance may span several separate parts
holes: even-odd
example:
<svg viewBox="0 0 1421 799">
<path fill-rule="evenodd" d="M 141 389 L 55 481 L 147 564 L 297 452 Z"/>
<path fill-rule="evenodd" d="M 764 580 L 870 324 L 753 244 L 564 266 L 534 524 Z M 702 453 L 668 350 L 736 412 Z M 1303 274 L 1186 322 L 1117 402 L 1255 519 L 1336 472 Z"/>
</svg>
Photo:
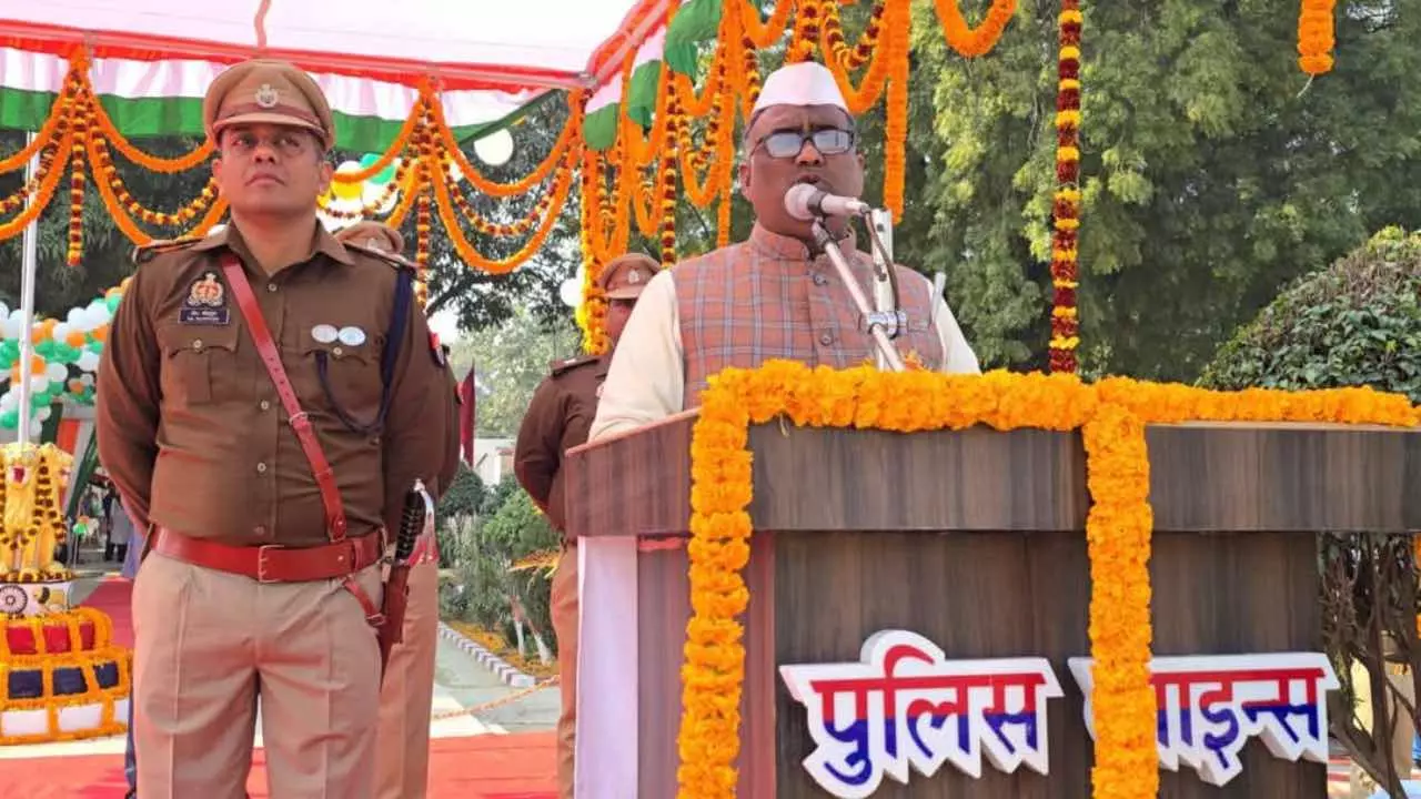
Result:
<svg viewBox="0 0 1421 799">
<path fill-rule="evenodd" d="M 627 320 L 603 382 L 590 439 L 679 414 L 685 372 L 676 283 L 666 270 L 647 283 Z"/>
</svg>

